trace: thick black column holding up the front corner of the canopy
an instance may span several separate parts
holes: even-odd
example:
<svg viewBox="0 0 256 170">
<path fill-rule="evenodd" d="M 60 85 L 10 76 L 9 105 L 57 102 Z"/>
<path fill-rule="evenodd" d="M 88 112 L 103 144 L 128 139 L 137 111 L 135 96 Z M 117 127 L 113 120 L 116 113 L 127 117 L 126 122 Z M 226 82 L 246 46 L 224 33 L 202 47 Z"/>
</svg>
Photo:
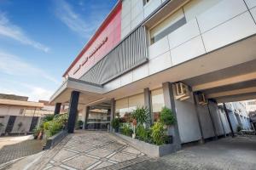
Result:
<svg viewBox="0 0 256 170">
<path fill-rule="evenodd" d="M 76 116 L 78 112 L 78 105 L 79 105 L 79 92 L 72 91 L 69 100 L 69 109 L 68 109 L 68 120 L 67 120 L 67 132 L 73 133 L 75 123 L 76 123 Z"/>
</svg>

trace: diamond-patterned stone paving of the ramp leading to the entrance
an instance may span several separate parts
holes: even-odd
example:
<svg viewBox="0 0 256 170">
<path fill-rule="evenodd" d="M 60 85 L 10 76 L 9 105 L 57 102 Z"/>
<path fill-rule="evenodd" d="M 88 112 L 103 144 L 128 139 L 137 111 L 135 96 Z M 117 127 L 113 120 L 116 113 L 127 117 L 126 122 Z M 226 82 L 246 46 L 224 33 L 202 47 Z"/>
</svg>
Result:
<svg viewBox="0 0 256 170">
<path fill-rule="evenodd" d="M 118 169 L 148 159 L 141 151 L 132 148 L 108 133 L 85 132 L 67 136 L 49 150 L 42 163 L 34 169 Z M 45 161 L 47 160 L 47 161 Z"/>
</svg>

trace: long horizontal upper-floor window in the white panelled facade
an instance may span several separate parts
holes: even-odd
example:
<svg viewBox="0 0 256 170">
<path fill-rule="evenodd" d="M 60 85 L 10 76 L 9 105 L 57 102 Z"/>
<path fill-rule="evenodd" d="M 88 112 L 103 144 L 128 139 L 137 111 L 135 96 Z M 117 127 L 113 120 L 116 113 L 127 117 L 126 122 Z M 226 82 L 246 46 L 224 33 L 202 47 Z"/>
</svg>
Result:
<svg viewBox="0 0 256 170">
<path fill-rule="evenodd" d="M 177 28 L 186 24 L 186 22 L 183 9 L 179 9 L 176 13 L 168 16 L 165 20 L 161 21 L 160 24 L 150 29 L 151 44 L 159 41 L 163 37 L 166 37 L 172 31 L 175 31 Z"/>
</svg>

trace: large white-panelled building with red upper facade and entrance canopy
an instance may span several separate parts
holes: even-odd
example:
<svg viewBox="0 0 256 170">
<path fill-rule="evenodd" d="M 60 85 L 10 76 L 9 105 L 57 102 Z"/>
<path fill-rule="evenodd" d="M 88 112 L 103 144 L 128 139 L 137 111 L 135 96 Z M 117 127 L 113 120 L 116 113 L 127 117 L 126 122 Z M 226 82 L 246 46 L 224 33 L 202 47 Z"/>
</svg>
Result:
<svg viewBox="0 0 256 170">
<path fill-rule="evenodd" d="M 77 111 L 88 127 L 93 110 L 104 110 L 91 127 L 106 129 L 109 112 L 125 122 L 138 105 L 152 122 L 172 109 L 174 145 L 230 133 L 218 103 L 255 99 L 255 20 L 252 0 L 119 1 L 50 102 L 69 105 L 69 133 Z"/>
</svg>

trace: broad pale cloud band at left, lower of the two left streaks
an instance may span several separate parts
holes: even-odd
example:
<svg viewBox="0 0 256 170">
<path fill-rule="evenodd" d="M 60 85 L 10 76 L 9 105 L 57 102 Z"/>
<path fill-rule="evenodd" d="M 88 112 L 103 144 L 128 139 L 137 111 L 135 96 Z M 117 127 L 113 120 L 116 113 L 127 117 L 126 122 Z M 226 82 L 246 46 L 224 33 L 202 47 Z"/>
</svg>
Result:
<svg viewBox="0 0 256 170">
<path fill-rule="evenodd" d="M 50 82 L 55 82 L 56 84 L 59 84 L 55 77 L 51 77 L 48 73 L 39 69 L 38 67 L 27 63 L 26 61 L 20 59 L 13 54 L 7 54 L 1 51 L 0 72 L 18 77 L 43 77 Z"/>
</svg>

